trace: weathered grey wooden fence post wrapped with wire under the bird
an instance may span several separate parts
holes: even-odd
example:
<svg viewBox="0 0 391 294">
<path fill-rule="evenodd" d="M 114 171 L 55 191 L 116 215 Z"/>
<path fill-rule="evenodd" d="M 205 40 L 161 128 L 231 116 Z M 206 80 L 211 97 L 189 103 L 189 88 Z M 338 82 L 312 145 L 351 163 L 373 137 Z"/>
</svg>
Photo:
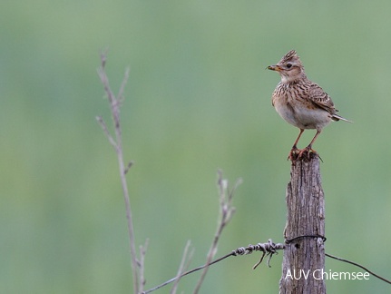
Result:
<svg viewBox="0 0 391 294">
<path fill-rule="evenodd" d="M 287 224 L 279 293 L 326 293 L 325 200 L 319 172 L 319 158 L 292 164 L 287 188 Z M 290 240 L 290 241 L 289 241 Z"/>
</svg>

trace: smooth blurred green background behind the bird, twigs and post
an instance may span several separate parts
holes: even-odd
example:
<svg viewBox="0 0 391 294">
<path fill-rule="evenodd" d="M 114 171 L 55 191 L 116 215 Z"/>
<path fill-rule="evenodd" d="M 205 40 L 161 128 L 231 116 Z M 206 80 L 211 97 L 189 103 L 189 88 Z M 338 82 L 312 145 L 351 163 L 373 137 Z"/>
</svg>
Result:
<svg viewBox="0 0 391 294">
<path fill-rule="evenodd" d="M 118 89 L 137 245 L 150 240 L 146 289 L 176 273 L 183 247 L 202 264 L 218 216 L 217 170 L 237 212 L 217 256 L 282 241 L 286 158 L 298 130 L 270 103 L 265 71 L 296 49 L 308 77 L 355 123 L 318 138 L 330 254 L 391 276 L 389 1 L 4 1 L 0 9 L 0 292 L 130 293 L 122 189 L 96 68 Z M 304 147 L 314 135 L 306 132 Z M 259 254 L 213 266 L 202 293 L 276 293 Z M 361 271 L 327 260 L 327 270 Z M 181 280 L 191 293 L 199 274 Z M 327 281 L 330 293 L 389 285 Z M 161 289 L 167 293 L 169 288 Z"/>
</svg>

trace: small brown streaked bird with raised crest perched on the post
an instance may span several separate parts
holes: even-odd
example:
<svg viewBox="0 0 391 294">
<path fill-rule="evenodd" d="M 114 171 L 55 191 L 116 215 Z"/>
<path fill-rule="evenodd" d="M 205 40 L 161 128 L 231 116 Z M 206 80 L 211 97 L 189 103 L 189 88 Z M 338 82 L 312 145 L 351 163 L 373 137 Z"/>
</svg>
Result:
<svg viewBox="0 0 391 294">
<path fill-rule="evenodd" d="M 322 129 L 330 122 L 351 122 L 337 114 L 330 96 L 323 91 L 318 83 L 307 78 L 304 66 L 295 50 L 285 54 L 278 64 L 269 65 L 267 69 L 276 71 L 281 76 L 271 96 L 271 103 L 277 113 L 288 123 L 297 127 L 300 132 L 288 154 L 288 160 L 295 162 L 307 152 L 318 154 L 312 149 Z M 304 130 L 317 130 L 308 146 L 298 149 L 298 140 Z"/>
</svg>

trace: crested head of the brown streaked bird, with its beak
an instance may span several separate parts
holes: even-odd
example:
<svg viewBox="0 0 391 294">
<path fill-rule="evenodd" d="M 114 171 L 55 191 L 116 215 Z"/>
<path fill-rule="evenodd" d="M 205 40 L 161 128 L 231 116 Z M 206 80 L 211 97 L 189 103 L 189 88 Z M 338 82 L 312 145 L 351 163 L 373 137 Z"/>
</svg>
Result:
<svg viewBox="0 0 391 294">
<path fill-rule="evenodd" d="M 295 50 L 290 50 L 285 54 L 278 64 L 267 67 L 271 71 L 279 72 L 282 83 L 292 83 L 303 78 L 307 78 L 304 66 Z"/>
</svg>

